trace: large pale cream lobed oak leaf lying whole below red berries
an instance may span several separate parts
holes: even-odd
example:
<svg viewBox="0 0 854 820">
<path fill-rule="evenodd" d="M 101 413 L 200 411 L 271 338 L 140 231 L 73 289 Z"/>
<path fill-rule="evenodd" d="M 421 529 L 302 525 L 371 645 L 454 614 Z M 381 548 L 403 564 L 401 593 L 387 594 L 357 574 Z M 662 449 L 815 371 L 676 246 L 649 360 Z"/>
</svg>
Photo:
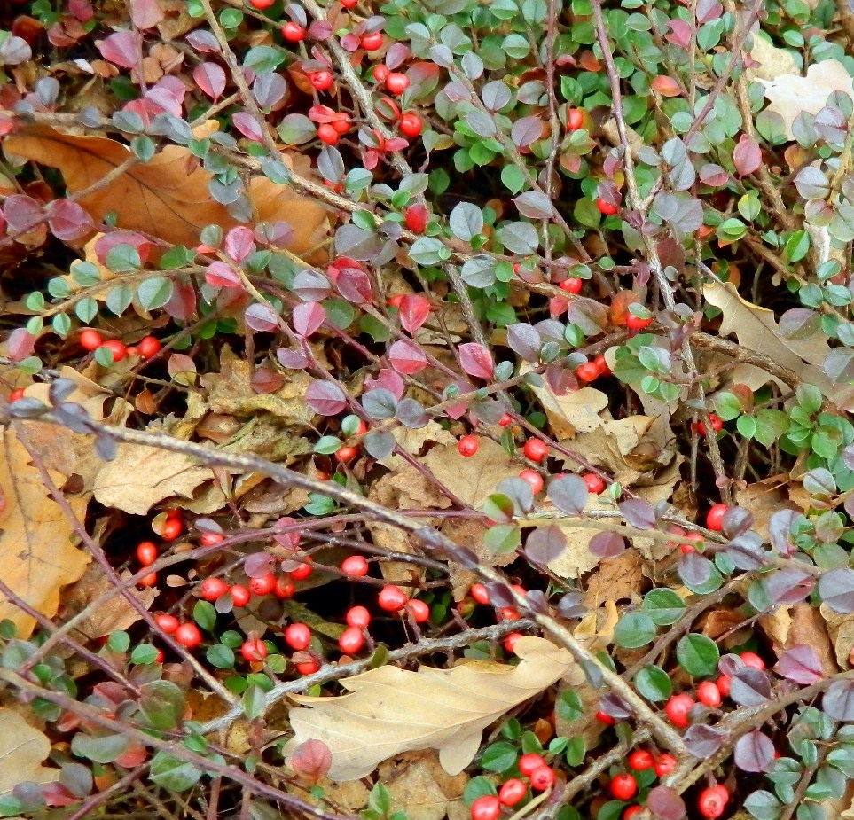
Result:
<svg viewBox="0 0 854 820">
<path fill-rule="evenodd" d="M 563 676 L 584 680 L 569 652 L 543 638 L 521 637 L 516 654 L 515 667 L 485 660 L 418 672 L 380 667 L 341 681 L 349 694 L 339 698 L 296 697 L 302 707 L 289 715 L 295 734 L 286 752 L 322 740 L 333 755 L 329 777 L 355 780 L 396 754 L 436 749 L 442 768 L 456 775 L 491 722 Z"/>
</svg>

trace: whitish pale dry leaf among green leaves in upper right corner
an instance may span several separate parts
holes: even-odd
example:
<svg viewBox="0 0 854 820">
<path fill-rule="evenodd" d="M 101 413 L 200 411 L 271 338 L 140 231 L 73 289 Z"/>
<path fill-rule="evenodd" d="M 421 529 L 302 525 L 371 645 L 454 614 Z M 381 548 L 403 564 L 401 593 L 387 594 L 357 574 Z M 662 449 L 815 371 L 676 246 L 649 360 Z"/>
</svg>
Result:
<svg viewBox="0 0 854 820">
<path fill-rule="evenodd" d="M 854 81 L 837 59 L 826 59 L 807 68 L 805 77 L 799 74 L 779 74 L 772 80 L 758 79 L 764 85 L 765 97 L 770 104 L 765 109 L 779 113 L 783 120 L 786 136 L 795 139 L 792 123 L 798 114 L 817 114 L 827 105 L 827 98 L 834 91 L 843 91 L 854 97 Z"/>
</svg>

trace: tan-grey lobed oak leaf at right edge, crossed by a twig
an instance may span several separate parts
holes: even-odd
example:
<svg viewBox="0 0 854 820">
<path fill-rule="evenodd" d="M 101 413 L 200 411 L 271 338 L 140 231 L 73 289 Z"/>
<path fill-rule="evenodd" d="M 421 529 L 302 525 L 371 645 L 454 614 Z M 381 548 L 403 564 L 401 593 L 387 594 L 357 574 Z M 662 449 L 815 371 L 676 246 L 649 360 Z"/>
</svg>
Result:
<svg viewBox="0 0 854 820">
<path fill-rule="evenodd" d="M 774 362 L 793 371 L 802 381 L 819 387 L 822 394 L 840 407 L 844 407 L 845 402 L 850 400 L 851 387 L 832 384 L 821 370 L 830 352 L 827 336 L 823 333 L 803 340 L 786 339 L 780 332 L 772 310 L 744 301 L 733 285 L 728 283 L 704 285 L 703 295 L 723 312 L 721 335 L 735 333 L 740 347 L 769 356 Z M 780 379 L 752 364 L 737 364 L 730 373 L 730 380 L 733 384 L 748 385 L 753 390 L 769 381 L 788 389 Z"/>
</svg>

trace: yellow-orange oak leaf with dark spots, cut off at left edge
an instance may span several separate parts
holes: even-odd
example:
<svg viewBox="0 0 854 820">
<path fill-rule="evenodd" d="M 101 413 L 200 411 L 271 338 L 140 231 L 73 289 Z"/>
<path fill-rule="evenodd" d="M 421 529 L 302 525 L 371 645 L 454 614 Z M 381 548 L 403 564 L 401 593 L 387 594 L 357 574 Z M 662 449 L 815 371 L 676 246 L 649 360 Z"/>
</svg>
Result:
<svg viewBox="0 0 854 820">
<path fill-rule="evenodd" d="M 25 433 L 26 434 L 26 433 Z M 11 430 L 4 433 L 0 460 L 0 565 L 3 580 L 38 612 L 52 618 L 59 590 L 81 577 L 90 557 L 74 545 L 74 527 L 44 487 L 29 453 Z M 49 470 L 61 486 L 66 476 Z M 69 496 L 68 504 L 82 520 L 87 501 Z M 33 631 L 35 619 L 0 596 L 0 620 L 9 618 L 19 637 Z"/>
</svg>

